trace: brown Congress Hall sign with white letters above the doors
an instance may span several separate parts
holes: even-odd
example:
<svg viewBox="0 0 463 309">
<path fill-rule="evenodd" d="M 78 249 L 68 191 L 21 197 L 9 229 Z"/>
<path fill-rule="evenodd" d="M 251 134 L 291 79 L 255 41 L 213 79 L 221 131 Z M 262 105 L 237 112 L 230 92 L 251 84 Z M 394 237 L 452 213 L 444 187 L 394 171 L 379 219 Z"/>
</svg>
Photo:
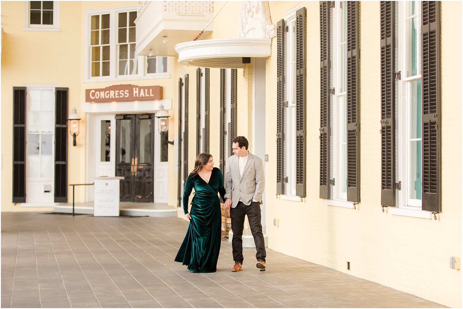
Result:
<svg viewBox="0 0 463 309">
<path fill-rule="evenodd" d="M 163 99 L 161 86 L 115 85 L 85 90 L 85 101 L 91 103 L 160 99 Z"/>
</svg>

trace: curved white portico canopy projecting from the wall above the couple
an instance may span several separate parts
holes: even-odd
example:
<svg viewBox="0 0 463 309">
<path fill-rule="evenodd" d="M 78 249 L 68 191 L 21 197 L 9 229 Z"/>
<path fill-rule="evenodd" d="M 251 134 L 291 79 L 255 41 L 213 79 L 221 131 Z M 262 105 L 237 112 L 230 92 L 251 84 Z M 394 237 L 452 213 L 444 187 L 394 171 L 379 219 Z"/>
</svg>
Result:
<svg viewBox="0 0 463 309">
<path fill-rule="evenodd" d="M 244 68 L 242 57 L 269 57 L 270 38 L 212 39 L 175 45 L 178 62 L 203 68 Z"/>
</svg>

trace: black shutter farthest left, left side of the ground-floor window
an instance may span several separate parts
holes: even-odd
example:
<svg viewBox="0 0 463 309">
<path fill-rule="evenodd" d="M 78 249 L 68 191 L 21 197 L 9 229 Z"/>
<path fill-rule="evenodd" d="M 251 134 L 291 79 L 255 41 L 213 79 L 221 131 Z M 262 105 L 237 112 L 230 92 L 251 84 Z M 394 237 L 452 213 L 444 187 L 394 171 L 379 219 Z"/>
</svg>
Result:
<svg viewBox="0 0 463 309">
<path fill-rule="evenodd" d="M 13 203 L 26 201 L 26 87 L 13 87 Z"/>
</svg>

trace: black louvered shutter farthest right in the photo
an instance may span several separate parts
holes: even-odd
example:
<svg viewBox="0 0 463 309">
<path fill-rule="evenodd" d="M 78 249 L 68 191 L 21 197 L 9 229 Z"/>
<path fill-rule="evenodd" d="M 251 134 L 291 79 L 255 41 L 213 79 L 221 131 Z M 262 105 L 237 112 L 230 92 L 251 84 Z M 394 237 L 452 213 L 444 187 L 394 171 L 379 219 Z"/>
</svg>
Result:
<svg viewBox="0 0 463 309">
<path fill-rule="evenodd" d="M 422 210 L 440 211 L 440 51 L 439 2 L 422 5 Z"/>
</svg>

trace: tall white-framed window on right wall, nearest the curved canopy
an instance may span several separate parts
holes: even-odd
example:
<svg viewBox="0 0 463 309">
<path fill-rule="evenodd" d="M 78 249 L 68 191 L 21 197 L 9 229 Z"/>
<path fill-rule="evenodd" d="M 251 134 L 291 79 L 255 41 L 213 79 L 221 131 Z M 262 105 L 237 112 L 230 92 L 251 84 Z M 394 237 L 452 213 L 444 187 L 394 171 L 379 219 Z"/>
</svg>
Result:
<svg viewBox="0 0 463 309">
<path fill-rule="evenodd" d="M 288 32 L 286 35 L 286 84 L 285 93 L 288 108 L 283 119 L 284 128 L 284 171 L 288 182 L 285 184 L 285 195 L 296 195 L 296 11 L 297 6 L 285 14 Z M 285 198 L 285 197 L 282 197 Z M 300 200 L 297 198 L 296 200 Z"/>
</svg>

